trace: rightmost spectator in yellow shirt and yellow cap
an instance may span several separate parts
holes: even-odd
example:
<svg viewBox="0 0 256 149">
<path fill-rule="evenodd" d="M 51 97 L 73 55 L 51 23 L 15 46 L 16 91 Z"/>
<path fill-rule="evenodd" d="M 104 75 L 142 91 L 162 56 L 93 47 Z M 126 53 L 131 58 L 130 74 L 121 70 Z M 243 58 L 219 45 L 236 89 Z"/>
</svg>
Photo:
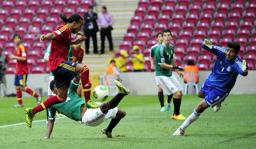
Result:
<svg viewBox="0 0 256 149">
<path fill-rule="evenodd" d="M 135 51 L 135 54 L 131 55 L 133 63 L 133 71 L 134 72 L 142 72 L 144 68 L 144 56 L 143 54 L 139 53 L 139 46 L 135 45 L 133 46 L 133 50 Z"/>
</svg>

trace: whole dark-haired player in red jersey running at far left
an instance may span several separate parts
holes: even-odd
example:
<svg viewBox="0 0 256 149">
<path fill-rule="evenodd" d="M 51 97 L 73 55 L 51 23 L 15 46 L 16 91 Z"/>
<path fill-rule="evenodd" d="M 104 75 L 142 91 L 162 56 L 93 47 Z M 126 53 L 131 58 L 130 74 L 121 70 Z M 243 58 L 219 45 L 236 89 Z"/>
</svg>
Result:
<svg viewBox="0 0 256 149">
<path fill-rule="evenodd" d="M 16 87 L 18 104 L 12 106 L 12 108 L 23 107 L 21 91 L 25 91 L 30 95 L 36 97 L 37 105 L 39 105 L 41 103 L 41 96 L 39 96 L 32 89 L 26 87 L 27 74 L 28 74 L 27 50 L 21 44 L 21 36 L 19 34 L 15 34 L 13 36 L 13 41 L 16 44 L 16 49 L 15 49 L 14 55 L 11 54 L 9 56 L 9 59 L 17 60 L 14 85 Z"/>
</svg>

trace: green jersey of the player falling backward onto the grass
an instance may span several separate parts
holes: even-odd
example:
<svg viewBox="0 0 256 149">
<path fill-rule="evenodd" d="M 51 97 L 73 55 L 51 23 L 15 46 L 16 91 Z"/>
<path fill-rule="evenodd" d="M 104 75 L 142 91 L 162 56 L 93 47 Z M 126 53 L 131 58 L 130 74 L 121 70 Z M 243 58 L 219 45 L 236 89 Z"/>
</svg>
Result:
<svg viewBox="0 0 256 149">
<path fill-rule="evenodd" d="M 48 109 L 49 119 L 53 119 L 55 117 L 56 111 L 58 111 L 70 119 L 81 121 L 81 105 L 85 104 L 85 100 L 81 99 L 77 95 L 77 87 L 78 85 L 75 85 L 73 82 L 71 82 L 67 91 L 66 101 L 53 105 Z"/>
</svg>

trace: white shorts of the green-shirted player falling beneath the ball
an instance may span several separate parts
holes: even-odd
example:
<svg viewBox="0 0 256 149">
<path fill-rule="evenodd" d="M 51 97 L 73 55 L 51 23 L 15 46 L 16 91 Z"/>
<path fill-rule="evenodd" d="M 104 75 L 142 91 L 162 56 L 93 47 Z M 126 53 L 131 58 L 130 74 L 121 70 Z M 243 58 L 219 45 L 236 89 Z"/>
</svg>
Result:
<svg viewBox="0 0 256 149">
<path fill-rule="evenodd" d="M 95 102 L 98 103 L 98 102 Z M 88 126 L 98 126 L 108 118 L 115 118 L 118 108 L 108 110 L 106 114 L 102 113 L 100 108 L 97 109 L 87 109 L 82 118 L 82 122 Z"/>
</svg>

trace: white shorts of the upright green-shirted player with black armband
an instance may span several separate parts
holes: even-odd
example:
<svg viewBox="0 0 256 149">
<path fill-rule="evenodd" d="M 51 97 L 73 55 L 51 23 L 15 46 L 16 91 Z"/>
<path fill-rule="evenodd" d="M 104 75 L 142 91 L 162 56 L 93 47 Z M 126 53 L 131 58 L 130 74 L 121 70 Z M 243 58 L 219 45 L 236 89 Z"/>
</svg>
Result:
<svg viewBox="0 0 256 149">
<path fill-rule="evenodd" d="M 156 82 L 162 87 L 163 91 L 168 95 L 175 93 L 177 90 L 181 91 L 182 86 L 174 75 L 170 77 L 156 76 Z"/>
</svg>

